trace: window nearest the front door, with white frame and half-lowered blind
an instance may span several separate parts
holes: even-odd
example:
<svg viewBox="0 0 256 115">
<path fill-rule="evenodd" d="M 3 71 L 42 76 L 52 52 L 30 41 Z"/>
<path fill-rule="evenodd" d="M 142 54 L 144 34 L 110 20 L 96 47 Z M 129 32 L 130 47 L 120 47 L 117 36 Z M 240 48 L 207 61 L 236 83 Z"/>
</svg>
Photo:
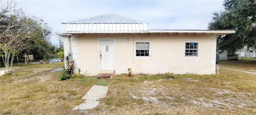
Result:
<svg viewBox="0 0 256 115">
<path fill-rule="evenodd" d="M 151 41 L 135 40 L 134 57 L 137 59 L 151 59 Z"/>
</svg>

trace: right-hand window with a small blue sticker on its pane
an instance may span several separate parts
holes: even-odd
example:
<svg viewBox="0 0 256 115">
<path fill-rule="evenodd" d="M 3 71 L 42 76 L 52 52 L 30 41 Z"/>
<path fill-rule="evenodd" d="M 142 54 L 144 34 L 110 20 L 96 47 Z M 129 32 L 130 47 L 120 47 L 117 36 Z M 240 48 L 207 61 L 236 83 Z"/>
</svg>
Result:
<svg viewBox="0 0 256 115">
<path fill-rule="evenodd" d="M 185 42 L 185 57 L 198 57 L 198 46 L 197 42 Z"/>
</svg>

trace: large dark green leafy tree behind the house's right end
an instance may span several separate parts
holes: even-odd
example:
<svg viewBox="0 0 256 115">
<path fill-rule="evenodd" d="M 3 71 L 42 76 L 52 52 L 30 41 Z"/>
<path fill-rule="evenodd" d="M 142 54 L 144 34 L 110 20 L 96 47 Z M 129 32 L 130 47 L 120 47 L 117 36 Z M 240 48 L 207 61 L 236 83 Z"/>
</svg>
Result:
<svg viewBox="0 0 256 115">
<path fill-rule="evenodd" d="M 256 0 L 225 0 L 225 11 L 214 12 L 209 30 L 236 30 L 217 37 L 219 52 L 234 55 L 244 46 L 256 48 Z"/>
</svg>

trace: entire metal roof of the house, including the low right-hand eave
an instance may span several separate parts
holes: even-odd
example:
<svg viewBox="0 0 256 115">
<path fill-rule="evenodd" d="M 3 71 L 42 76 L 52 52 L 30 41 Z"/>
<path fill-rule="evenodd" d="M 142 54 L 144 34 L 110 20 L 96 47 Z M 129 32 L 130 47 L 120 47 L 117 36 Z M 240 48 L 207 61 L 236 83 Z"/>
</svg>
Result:
<svg viewBox="0 0 256 115">
<path fill-rule="evenodd" d="M 103 14 L 62 23 L 66 34 L 225 35 L 235 30 L 148 30 L 148 24 L 117 14 Z"/>
</svg>

